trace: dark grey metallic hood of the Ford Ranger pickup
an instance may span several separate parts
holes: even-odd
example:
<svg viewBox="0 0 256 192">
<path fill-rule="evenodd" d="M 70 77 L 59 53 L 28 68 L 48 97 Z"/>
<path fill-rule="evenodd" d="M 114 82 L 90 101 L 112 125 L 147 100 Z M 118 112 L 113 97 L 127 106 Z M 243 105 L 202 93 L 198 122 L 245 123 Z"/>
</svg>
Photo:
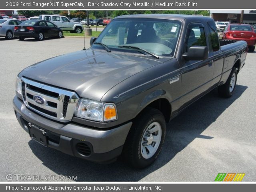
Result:
<svg viewBox="0 0 256 192">
<path fill-rule="evenodd" d="M 100 101 L 116 84 L 163 60 L 88 49 L 38 62 L 22 70 L 19 77 L 74 90 L 80 97 Z"/>
</svg>

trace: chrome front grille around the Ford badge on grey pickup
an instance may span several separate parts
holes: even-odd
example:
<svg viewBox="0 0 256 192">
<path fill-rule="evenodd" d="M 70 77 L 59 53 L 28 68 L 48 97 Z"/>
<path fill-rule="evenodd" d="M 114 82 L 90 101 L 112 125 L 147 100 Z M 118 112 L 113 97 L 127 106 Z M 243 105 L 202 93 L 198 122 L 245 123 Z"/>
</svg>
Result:
<svg viewBox="0 0 256 192">
<path fill-rule="evenodd" d="M 34 96 L 39 96 L 43 102 L 34 100 Z M 78 102 L 75 92 L 48 86 L 24 77 L 22 77 L 22 98 L 28 108 L 62 122 L 72 119 Z"/>
</svg>

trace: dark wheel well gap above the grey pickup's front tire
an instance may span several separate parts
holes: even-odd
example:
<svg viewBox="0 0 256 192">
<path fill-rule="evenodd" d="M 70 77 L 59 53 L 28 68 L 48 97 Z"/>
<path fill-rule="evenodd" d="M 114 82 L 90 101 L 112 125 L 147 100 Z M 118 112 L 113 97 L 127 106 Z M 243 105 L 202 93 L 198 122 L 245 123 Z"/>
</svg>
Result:
<svg viewBox="0 0 256 192">
<path fill-rule="evenodd" d="M 170 121 L 172 107 L 170 102 L 167 99 L 161 98 L 161 99 L 155 100 L 152 103 L 150 103 L 147 107 L 160 110 L 164 115 L 165 121 L 166 122 Z"/>
</svg>

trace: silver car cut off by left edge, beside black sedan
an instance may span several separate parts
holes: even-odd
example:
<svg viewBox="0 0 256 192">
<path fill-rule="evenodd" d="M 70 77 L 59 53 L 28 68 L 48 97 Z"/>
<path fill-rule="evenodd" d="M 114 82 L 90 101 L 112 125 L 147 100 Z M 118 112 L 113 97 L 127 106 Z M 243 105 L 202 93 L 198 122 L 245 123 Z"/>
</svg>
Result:
<svg viewBox="0 0 256 192">
<path fill-rule="evenodd" d="M 14 26 L 19 25 L 20 23 L 22 23 L 20 20 L 0 19 L 0 37 L 5 37 L 8 40 L 12 39 L 14 34 Z"/>
</svg>

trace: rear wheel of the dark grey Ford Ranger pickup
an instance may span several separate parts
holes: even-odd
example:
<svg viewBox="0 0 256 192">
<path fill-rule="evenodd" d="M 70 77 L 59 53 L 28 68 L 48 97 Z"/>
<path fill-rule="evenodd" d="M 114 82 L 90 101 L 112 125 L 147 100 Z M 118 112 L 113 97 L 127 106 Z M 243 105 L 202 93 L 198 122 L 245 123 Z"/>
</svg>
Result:
<svg viewBox="0 0 256 192">
<path fill-rule="evenodd" d="M 236 80 L 237 80 L 237 70 L 236 68 L 232 68 L 226 83 L 218 87 L 219 95 L 224 98 L 230 98 L 233 95 L 233 92 L 236 88 Z M 234 87 L 231 87 L 231 84 L 233 83 L 234 83 L 233 85 Z"/>
</svg>

